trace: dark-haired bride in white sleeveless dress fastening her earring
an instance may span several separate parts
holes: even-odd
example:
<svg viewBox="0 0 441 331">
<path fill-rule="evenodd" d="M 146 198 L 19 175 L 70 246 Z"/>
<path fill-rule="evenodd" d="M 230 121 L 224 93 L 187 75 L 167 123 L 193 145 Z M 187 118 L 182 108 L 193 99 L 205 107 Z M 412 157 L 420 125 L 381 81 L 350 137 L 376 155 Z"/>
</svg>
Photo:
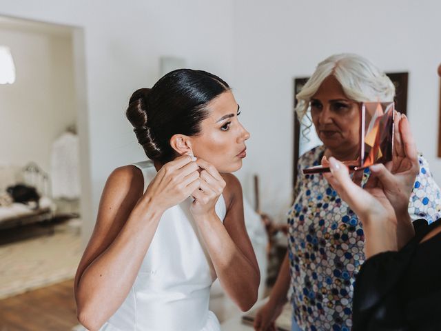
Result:
<svg viewBox="0 0 441 331">
<path fill-rule="evenodd" d="M 225 81 L 201 70 L 166 74 L 127 108 L 148 160 L 107 179 L 74 293 L 88 330 L 216 331 L 216 277 L 243 310 L 260 275 L 243 219 L 249 133 Z"/>
</svg>

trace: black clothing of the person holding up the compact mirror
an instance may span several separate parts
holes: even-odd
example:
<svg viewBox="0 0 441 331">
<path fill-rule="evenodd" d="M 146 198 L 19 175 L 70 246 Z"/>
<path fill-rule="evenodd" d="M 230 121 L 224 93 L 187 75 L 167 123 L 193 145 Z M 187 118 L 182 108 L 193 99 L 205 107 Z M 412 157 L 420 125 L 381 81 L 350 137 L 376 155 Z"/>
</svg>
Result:
<svg viewBox="0 0 441 331">
<path fill-rule="evenodd" d="M 362 265 L 353 294 L 353 331 L 441 330 L 441 225 L 413 223 L 416 235 L 399 252 L 377 254 Z"/>
</svg>

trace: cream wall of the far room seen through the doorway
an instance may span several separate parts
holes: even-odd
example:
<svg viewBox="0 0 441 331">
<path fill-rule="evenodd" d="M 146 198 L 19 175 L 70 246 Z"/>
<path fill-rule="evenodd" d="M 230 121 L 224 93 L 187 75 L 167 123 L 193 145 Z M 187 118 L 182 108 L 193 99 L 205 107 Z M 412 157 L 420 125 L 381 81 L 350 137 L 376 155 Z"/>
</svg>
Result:
<svg viewBox="0 0 441 331">
<path fill-rule="evenodd" d="M 15 83 L 0 86 L 0 163 L 50 172 L 52 143 L 76 121 L 72 38 L 0 25 L 0 44 L 17 68 Z"/>
</svg>

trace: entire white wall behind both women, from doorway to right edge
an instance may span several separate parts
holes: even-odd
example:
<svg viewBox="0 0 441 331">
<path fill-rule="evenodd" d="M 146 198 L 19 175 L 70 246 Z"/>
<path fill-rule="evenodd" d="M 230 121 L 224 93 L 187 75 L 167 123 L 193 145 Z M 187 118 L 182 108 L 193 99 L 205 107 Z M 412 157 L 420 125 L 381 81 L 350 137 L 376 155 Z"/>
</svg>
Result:
<svg viewBox="0 0 441 331">
<path fill-rule="evenodd" d="M 0 14 L 84 28 L 89 112 L 80 121 L 83 142 L 90 141 L 83 151 L 90 153 L 93 206 L 85 237 L 108 174 L 143 158 L 123 110 L 134 89 L 158 79 L 163 55 L 183 57 L 189 67 L 212 71 L 232 85 L 252 134 L 238 172 L 245 195 L 252 199 L 251 176 L 258 172 L 263 210 L 280 221 L 291 194 L 292 80 L 336 52 L 357 52 L 387 71 L 409 71 L 409 119 L 441 181 L 435 157 L 438 0 L 0 0 L 0 8 Z"/>
</svg>

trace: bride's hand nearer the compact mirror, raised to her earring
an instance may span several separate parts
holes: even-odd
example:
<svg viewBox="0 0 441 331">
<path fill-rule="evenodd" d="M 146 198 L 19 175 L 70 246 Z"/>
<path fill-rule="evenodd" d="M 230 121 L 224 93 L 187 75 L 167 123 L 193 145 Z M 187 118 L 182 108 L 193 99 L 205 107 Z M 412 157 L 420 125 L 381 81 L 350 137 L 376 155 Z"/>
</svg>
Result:
<svg viewBox="0 0 441 331">
<path fill-rule="evenodd" d="M 201 186 L 192 193 L 194 201 L 190 211 L 194 217 L 201 217 L 215 212 L 214 207 L 220 194 L 223 193 L 226 183 L 214 165 L 199 158 L 196 163 L 202 169 L 199 176 Z"/>
</svg>

